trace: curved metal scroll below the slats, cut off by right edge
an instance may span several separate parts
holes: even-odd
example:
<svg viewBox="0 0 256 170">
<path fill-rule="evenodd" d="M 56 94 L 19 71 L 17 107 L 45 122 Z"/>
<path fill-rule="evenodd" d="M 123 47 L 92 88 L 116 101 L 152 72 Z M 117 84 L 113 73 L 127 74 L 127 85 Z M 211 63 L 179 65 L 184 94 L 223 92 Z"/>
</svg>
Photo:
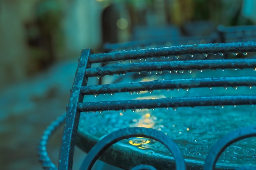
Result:
<svg viewBox="0 0 256 170">
<path fill-rule="evenodd" d="M 213 170 L 218 160 L 220 154 L 227 148 L 227 146 L 233 144 L 236 141 L 241 139 L 245 139 L 247 137 L 255 137 L 256 136 L 256 126 L 239 128 L 234 130 L 233 132 L 228 133 L 224 137 L 222 137 L 216 144 L 214 144 L 205 160 L 204 170 Z M 244 170 L 247 168 L 239 168 L 240 170 Z M 249 168 L 252 170 L 253 168 Z"/>
</svg>

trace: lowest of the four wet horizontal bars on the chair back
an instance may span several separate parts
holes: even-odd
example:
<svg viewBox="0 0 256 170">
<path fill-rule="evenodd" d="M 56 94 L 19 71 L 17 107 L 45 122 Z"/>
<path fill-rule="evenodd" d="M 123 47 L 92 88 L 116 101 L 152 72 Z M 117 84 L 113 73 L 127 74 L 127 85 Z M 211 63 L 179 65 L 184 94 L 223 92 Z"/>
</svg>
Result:
<svg viewBox="0 0 256 170">
<path fill-rule="evenodd" d="M 127 110 L 143 108 L 177 108 L 186 106 L 222 106 L 256 104 L 256 95 L 227 95 L 203 97 L 172 97 L 162 99 L 136 99 L 109 102 L 79 103 L 80 111 Z"/>
</svg>

